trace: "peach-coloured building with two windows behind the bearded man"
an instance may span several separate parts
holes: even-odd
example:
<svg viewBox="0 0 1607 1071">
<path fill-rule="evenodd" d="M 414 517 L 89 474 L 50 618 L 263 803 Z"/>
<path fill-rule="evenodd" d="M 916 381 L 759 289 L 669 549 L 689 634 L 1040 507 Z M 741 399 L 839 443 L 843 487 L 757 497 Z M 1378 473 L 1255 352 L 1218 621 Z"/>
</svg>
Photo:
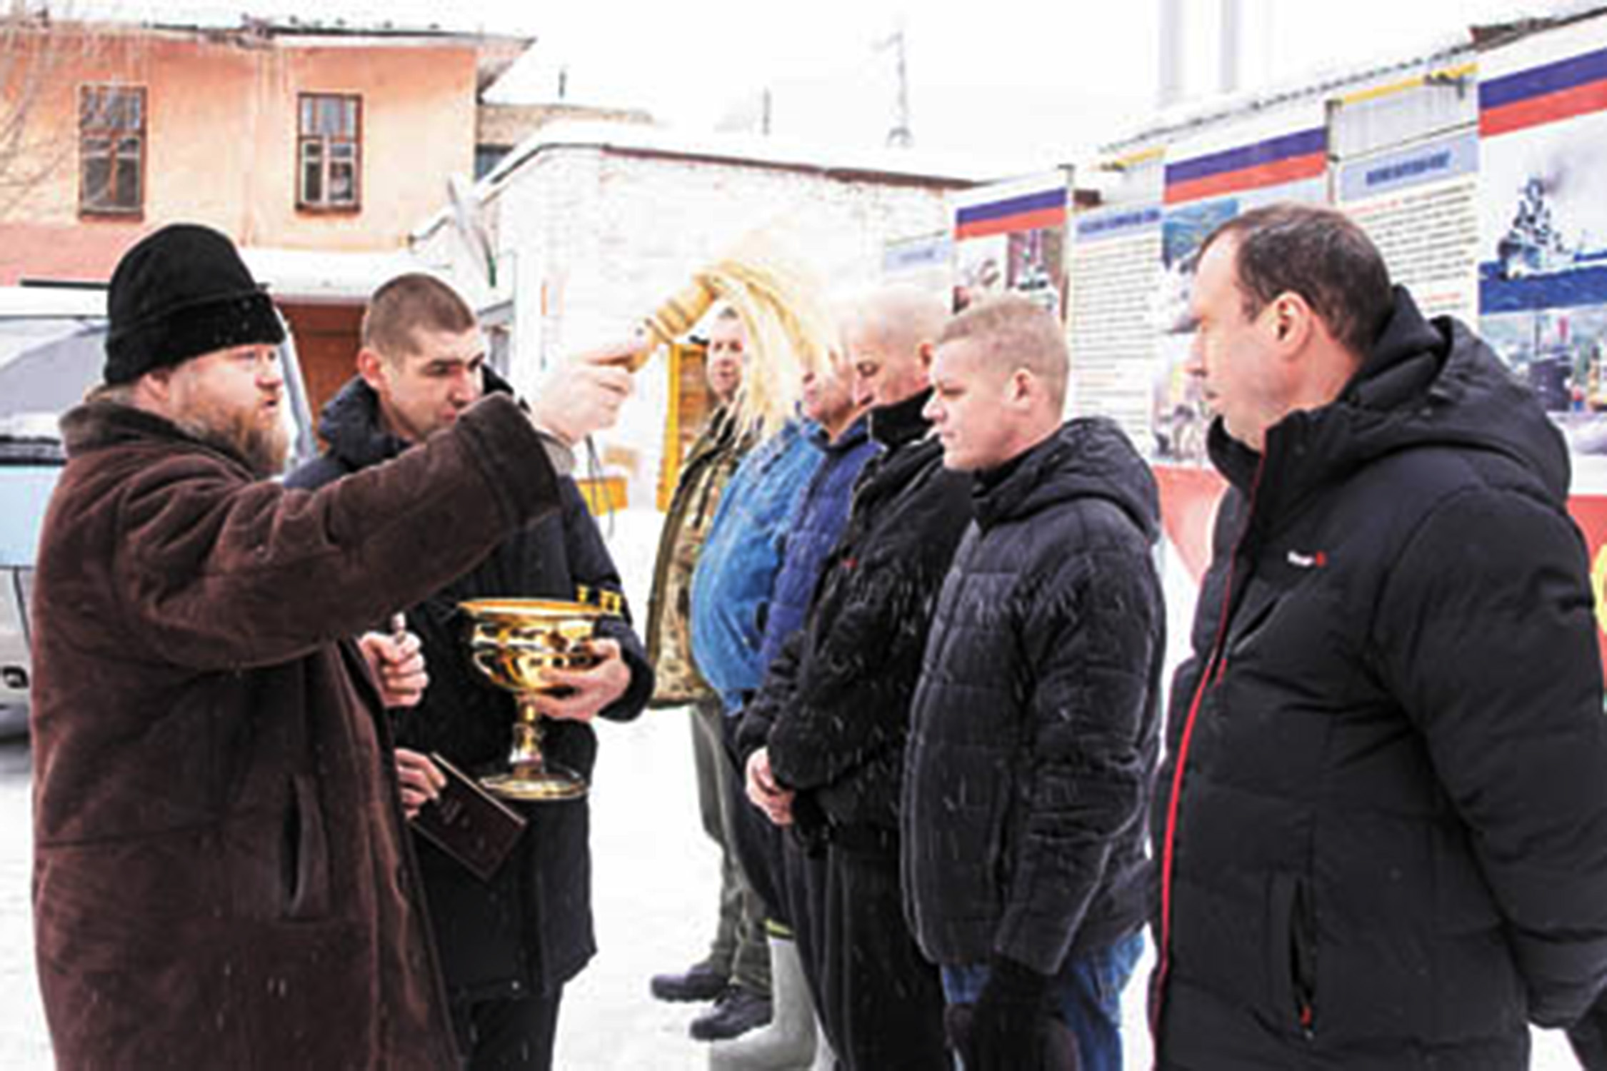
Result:
<svg viewBox="0 0 1607 1071">
<path fill-rule="evenodd" d="M 315 406 L 408 230 L 472 177 L 480 90 L 530 45 L 31 16 L 0 37 L 0 286 L 104 283 L 141 234 L 207 223 L 280 297 Z"/>
</svg>

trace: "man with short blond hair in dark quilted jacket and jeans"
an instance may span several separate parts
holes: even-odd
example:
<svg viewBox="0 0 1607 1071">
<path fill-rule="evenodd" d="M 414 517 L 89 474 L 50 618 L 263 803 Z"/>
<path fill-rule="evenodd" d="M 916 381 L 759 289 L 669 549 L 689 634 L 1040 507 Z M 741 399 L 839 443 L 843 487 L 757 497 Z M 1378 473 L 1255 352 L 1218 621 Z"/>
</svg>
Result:
<svg viewBox="0 0 1607 1071">
<path fill-rule="evenodd" d="M 1112 421 L 1061 422 L 1065 379 L 1059 321 L 1000 297 L 943 331 L 926 406 L 975 520 L 914 695 L 905 909 L 966 1071 L 1120 1071 L 1144 946 L 1155 480 Z"/>
</svg>

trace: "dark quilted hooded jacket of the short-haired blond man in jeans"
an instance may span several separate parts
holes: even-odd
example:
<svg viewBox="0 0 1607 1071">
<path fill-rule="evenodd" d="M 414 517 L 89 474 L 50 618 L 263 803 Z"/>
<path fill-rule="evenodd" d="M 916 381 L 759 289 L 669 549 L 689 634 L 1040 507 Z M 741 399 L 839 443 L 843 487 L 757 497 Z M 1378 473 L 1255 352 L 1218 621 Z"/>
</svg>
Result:
<svg viewBox="0 0 1607 1071">
<path fill-rule="evenodd" d="M 974 501 L 905 751 L 905 907 L 935 963 L 1053 975 L 1149 915 L 1155 480 L 1114 422 L 1080 419 Z"/>
</svg>

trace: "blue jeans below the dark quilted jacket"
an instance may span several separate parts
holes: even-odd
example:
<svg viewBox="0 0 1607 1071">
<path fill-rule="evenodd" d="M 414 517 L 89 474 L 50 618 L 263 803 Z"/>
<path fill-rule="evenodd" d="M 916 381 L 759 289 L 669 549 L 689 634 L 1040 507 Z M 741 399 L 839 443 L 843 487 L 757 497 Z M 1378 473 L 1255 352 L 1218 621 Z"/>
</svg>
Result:
<svg viewBox="0 0 1607 1071">
<path fill-rule="evenodd" d="M 1122 1071 L 1122 991 L 1143 952 L 1139 930 L 1061 968 L 1053 988 L 1054 1012 L 1077 1037 L 1082 1071 Z M 945 967 L 943 997 L 950 1004 L 975 1004 L 987 979 L 987 965 Z"/>
</svg>

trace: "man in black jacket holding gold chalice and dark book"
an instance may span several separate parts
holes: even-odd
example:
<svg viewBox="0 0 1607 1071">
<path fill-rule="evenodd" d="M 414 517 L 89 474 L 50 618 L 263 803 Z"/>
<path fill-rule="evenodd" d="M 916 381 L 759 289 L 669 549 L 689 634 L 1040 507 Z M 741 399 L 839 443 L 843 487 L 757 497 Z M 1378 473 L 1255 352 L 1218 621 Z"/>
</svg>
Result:
<svg viewBox="0 0 1607 1071">
<path fill-rule="evenodd" d="M 323 411 L 329 450 L 291 483 L 376 466 L 509 390 L 485 364 L 463 299 L 403 275 L 370 300 L 357 376 Z M 543 416 L 540 389 L 530 408 Z M 591 723 L 635 718 L 652 692 L 619 572 L 567 474 L 559 499 L 407 612 L 429 684 L 416 707 L 394 711 L 397 766 L 471 1071 L 551 1066 L 564 984 L 596 951 Z"/>
</svg>

